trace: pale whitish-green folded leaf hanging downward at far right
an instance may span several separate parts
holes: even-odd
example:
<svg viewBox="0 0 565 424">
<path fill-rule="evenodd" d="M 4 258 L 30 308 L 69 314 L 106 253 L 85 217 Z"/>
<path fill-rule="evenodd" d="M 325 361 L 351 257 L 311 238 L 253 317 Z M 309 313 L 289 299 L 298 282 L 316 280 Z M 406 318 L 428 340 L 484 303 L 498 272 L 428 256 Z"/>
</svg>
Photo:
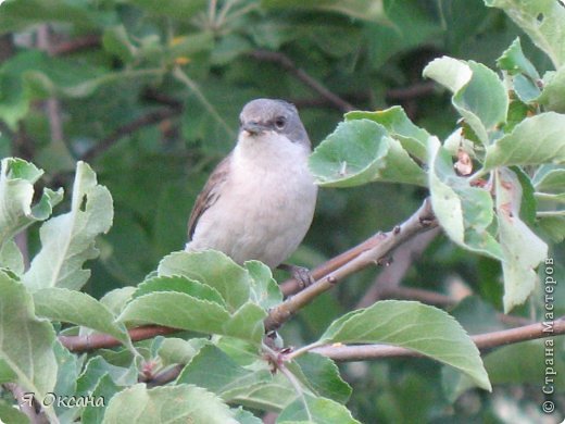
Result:
<svg viewBox="0 0 565 424">
<path fill-rule="evenodd" d="M 519 219 L 522 185 L 514 172 L 497 171 L 497 217 L 504 260 L 504 311 L 522 304 L 538 282 L 536 267 L 548 257 L 545 245 Z"/>
</svg>

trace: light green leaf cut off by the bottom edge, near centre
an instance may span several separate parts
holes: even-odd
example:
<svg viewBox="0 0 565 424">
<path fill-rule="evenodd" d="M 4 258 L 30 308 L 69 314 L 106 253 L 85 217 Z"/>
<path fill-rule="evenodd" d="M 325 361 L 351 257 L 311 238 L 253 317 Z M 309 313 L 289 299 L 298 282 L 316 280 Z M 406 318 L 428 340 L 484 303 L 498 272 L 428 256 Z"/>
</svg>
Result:
<svg viewBox="0 0 565 424">
<path fill-rule="evenodd" d="M 280 412 L 278 424 L 291 423 L 360 423 L 342 404 L 325 398 L 304 395 Z"/>
</svg>

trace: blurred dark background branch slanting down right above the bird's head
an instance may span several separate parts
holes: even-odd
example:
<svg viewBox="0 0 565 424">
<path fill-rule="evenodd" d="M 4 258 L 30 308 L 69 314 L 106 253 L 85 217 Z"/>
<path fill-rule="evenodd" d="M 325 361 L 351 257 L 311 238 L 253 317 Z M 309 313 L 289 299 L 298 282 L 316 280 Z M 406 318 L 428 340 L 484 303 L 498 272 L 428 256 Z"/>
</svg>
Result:
<svg viewBox="0 0 565 424">
<path fill-rule="evenodd" d="M 334 104 L 340 111 L 348 112 L 354 109 L 353 105 L 348 103 L 338 95 L 328 90 L 319 82 L 310 76 L 304 70 L 298 67 L 288 55 L 278 51 L 268 50 L 255 50 L 250 52 L 249 55 L 262 62 L 272 62 L 282 66 L 282 68 L 293 74 L 298 79 L 304 83 L 304 85 L 309 86 L 323 98 L 330 101 L 331 104 Z"/>
</svg>

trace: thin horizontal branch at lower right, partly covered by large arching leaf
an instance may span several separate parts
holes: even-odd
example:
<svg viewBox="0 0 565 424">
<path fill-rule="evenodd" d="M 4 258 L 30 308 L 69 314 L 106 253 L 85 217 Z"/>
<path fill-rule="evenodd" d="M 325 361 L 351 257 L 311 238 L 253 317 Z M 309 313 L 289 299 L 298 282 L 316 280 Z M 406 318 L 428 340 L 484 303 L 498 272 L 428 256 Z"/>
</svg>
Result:
<svg viewBox="0 0 565 424">
<path fill-rule="evenodd" d="M 470 338 L 478 349 L 485 350 L 563 334 L 565 334 L 565 319 L 562 317 L 554 322 L 553 332 L 549 332 L 542 323 L 536 323 L 517 328 L 478 334 Z M 311 351 L 328 357 L 334 361 L 368 361 L 391 357 L 422 357 L 420 353 L 413 350 L 387 345 L 328 345 L 314 348 Z"/>
</svg>

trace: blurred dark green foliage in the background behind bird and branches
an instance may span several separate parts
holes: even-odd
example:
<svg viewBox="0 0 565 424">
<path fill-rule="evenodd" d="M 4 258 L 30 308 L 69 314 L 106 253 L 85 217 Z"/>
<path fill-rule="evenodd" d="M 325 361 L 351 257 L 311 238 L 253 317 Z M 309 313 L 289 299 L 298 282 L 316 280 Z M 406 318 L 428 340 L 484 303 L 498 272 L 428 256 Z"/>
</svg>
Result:
<svg viewBox="0 0 565 424">
<path fill-rule="evenodd" d="M 539 70 L 551 67 L 502 11 L 479 0 L 9 0 L 0 7 L 0 154 L 35 162 L 50 187 L 68 186 L 75 161 L 85 159 L 112 192 L 114 224 L 100 240 L 101 261 L 86 288 L 96 297 L 137 284 L 164 254 L 183 248 L 194 197 L 233 148 L 238 113 L 250 99 L 296 103 L 314 145 L 348 105 L 401 104 L 419 126 L 444 137 L 457 117 L 448 93 L 422 78 L 431 59 L 449 54 L 494 67 L 523 36 L 526 55 Z M 312 80 L 340 100 L 313 89 Z M 389 229 L 425 195 L 401 185 L 321 190 L 294 262 L 313 266 Z M 28 244 L 37 249 L 37 234 L 29 232 Z M 552 255 L 563 253 L 561 246 Z M 284 328 L 287 342 L 301 345 L 353 309 L 375 274 L 360 273 L 304 309 Z M 439 236 L 403 285 L 451 298 L 480 296 L 454 315 L 486 331 L 500 327 L 493 324 L 500 278 L 498 263 Z M 520 309 L 524 316 L 539 313 L 540 298 Z M 474 391 L 454 404 L 441 392 L 441 367 L 429 361 L 353 363 L 344 371 L 355 394 L 349 406 L 364 422 L 455 415 L 498 422 L 500 408 L 491 407 L 540 398 L 541 356 L 531 366 L 538 370 L 524 378 L 501 377 L 522 384 L 530 376 L 531 387 Z"/>
</svg>

